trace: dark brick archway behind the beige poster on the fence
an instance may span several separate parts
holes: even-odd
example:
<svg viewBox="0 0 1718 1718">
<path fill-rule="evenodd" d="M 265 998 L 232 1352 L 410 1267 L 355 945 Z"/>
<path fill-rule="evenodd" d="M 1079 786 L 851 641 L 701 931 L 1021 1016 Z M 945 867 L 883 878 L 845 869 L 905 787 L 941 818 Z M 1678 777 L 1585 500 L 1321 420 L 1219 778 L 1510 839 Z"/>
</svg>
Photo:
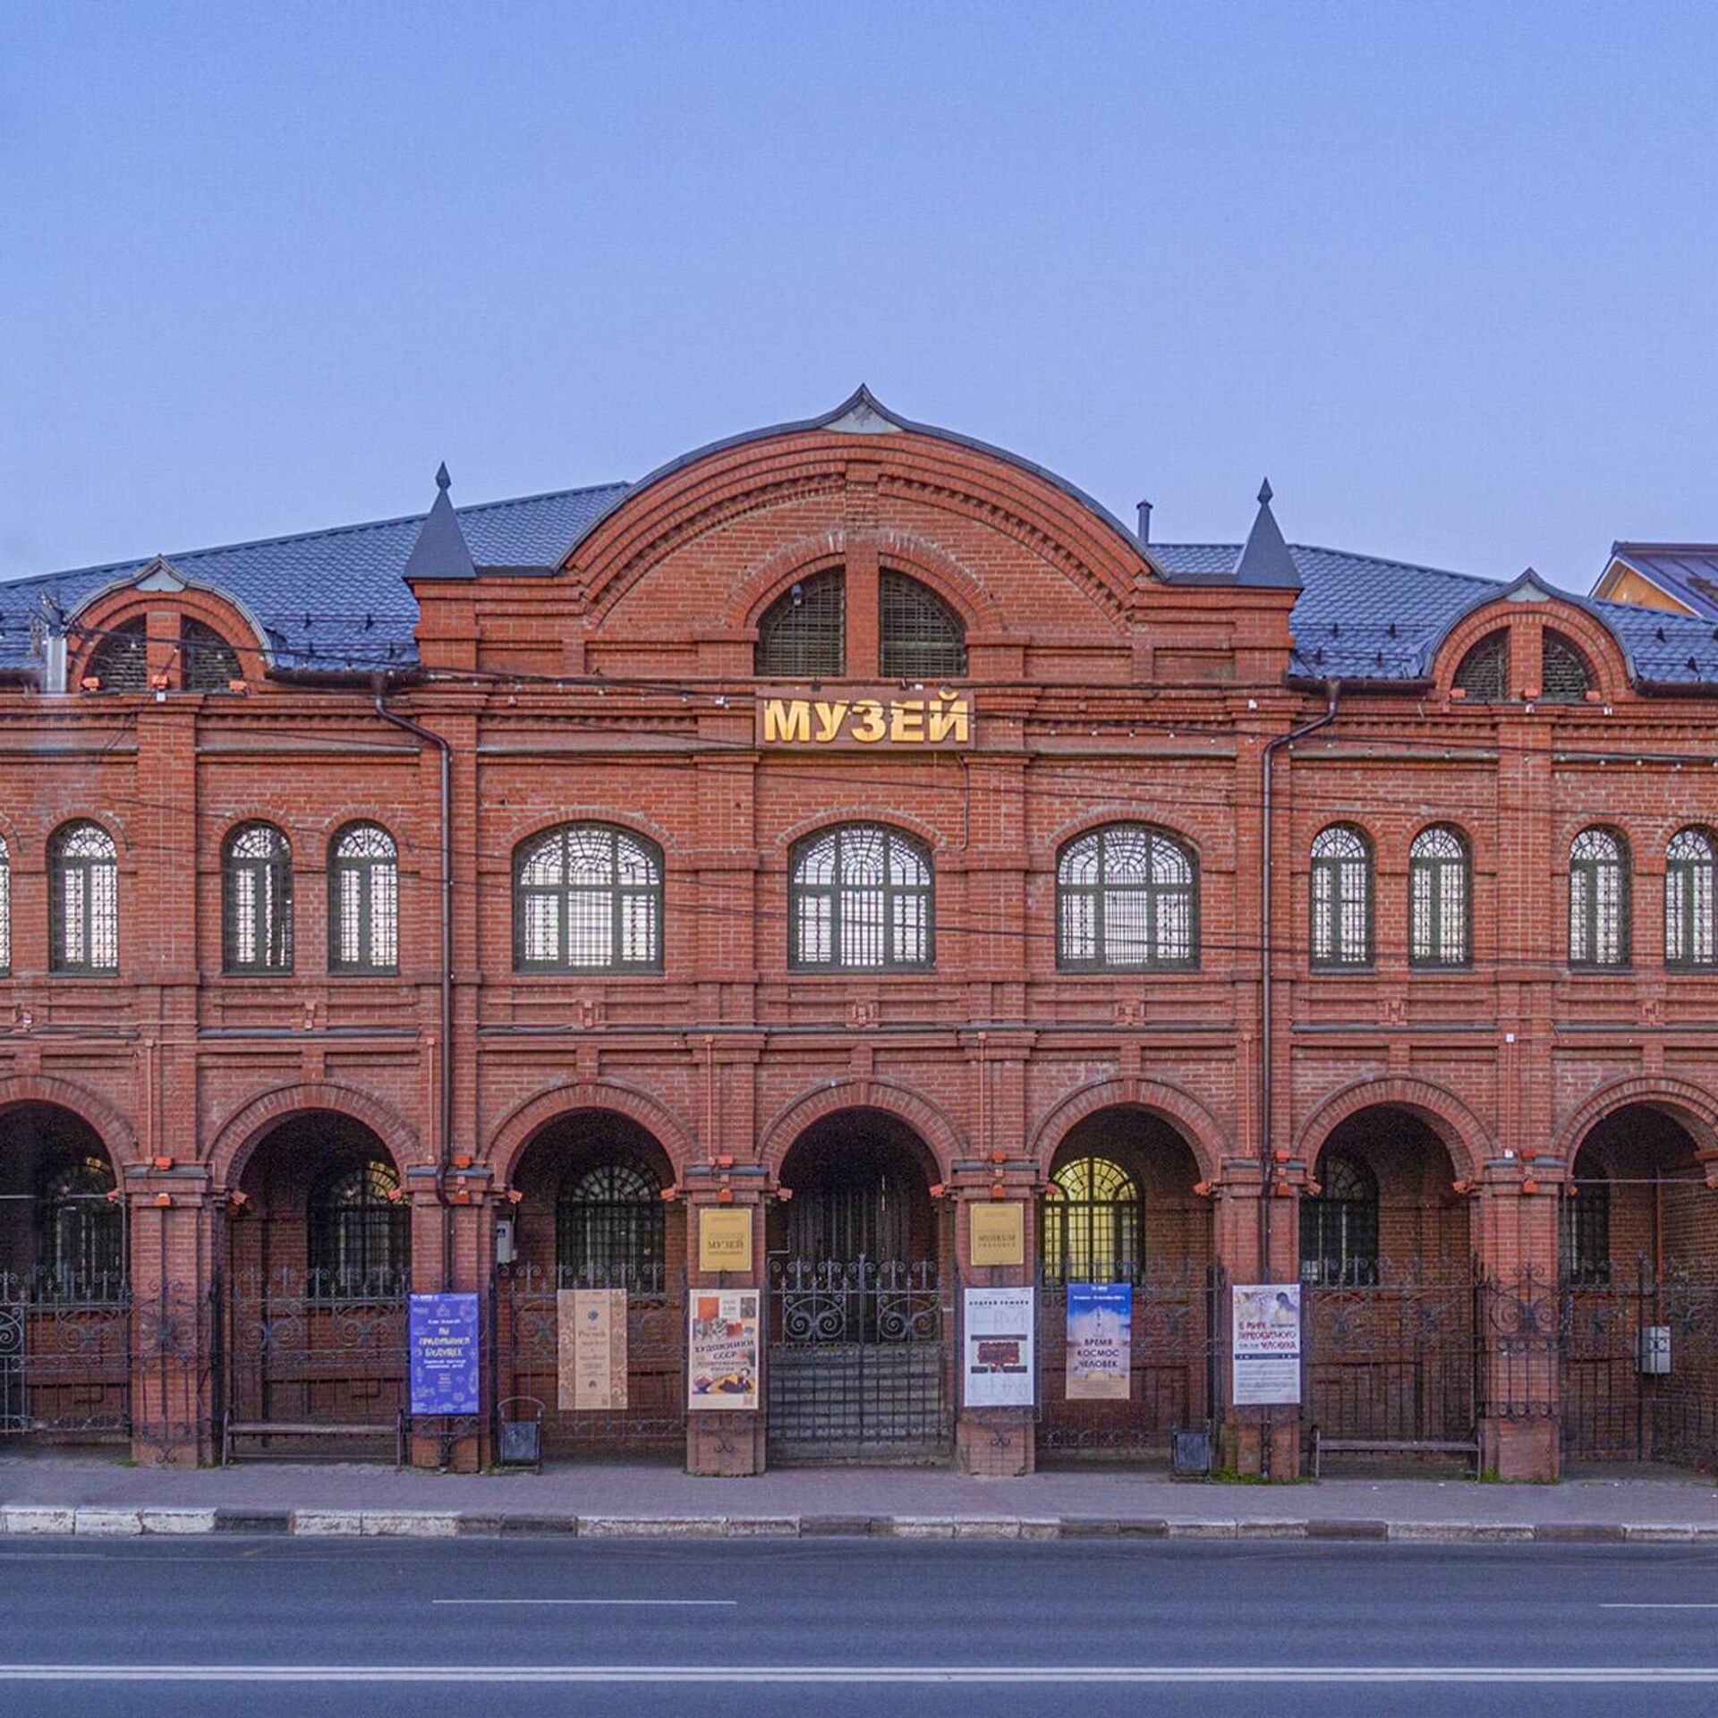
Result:
<svg viewBox="0 0 1718 1718">
<path fill-rule="evenodd" d="M 546 1453 L 685 1448 L 685 1211 L 656 1137 L 613 1110 L 548 1122 L 512 1170 L 514 1258 L 497 1263 L 497 1397 L 543 1404 Z M 562 1402 L 562 1321 L 579 1292 L 625 1295 L 625 1404 Z"/>
</svg>

